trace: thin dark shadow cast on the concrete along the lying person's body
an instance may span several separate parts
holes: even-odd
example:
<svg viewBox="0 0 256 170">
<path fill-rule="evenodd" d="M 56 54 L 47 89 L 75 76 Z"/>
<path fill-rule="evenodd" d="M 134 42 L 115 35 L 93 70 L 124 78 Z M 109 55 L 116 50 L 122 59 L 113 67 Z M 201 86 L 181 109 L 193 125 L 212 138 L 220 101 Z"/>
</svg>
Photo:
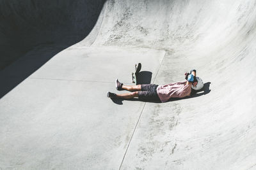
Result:
<svg viewBox="0 0 256 170">
<path fill-rule="evenodd" d="M 194 97 L 200 97 L 200 96 L 203 96 L 205 94 L 209 94 L 209 92 L 211 92 L 210 84 L 211 84 L 211 82 L 207 82 L 207 83 L 204 83 L 203 89 L 201 89 L 201 90 L 192 90 L 191 91 L 191 96 L 183 97 L 183 98 L 171 98 L 167 102 L 179 101 L 179 100 L 184 100 L 184 99 L 190 99 L 190 98 L 194 98 Z M 122 105 L 123 101 L 125 99 L 111 99 L 111 100 L 115 104 Z M 138 98 L 126 99 L 125 101 L 142 101 L 142 102 L 148 102 L 148 103 L 162 103 L 160 100 L 141 100 L 141 99 L 138 99 Z"/>
</svg>

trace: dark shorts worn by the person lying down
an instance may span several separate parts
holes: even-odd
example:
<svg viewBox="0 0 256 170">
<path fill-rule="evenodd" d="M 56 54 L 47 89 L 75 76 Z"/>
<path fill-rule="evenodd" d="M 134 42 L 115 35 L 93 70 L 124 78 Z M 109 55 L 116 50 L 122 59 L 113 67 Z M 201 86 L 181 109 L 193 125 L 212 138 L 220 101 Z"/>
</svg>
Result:
<svg viewBox="0 0 256 170">
<path fill-rule="evenodd" d="M 154 84 L 141 85 L 141 91 L 138 92 L 139 99 L 159 101 L 159 97 L 156 91 L 157 87 L 158 85 Z"/>
</svg>

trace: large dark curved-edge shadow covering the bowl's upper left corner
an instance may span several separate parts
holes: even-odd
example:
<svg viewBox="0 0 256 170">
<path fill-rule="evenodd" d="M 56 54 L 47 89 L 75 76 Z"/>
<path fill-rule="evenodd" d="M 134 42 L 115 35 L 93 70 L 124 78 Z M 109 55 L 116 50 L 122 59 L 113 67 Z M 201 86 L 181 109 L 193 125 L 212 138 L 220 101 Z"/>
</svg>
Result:
<svg viewBox="0 0 256 170">
<path fill-rule="evenodd" d="M 86 38 L 105 2 L 0 1 L 0 99 L 54 55 Z"/>
</svg>

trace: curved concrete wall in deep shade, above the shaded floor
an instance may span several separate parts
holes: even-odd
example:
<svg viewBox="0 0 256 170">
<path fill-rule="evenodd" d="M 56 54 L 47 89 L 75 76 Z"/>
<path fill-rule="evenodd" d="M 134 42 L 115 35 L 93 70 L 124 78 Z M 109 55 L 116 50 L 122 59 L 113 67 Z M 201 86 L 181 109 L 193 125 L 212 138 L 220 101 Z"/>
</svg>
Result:
<svg viewBox="0 0 256 170">
<path fill-rule="evenodd" d="M 3 69 L 39 45 L 73 45 L 92 31 L 104 0 L 0 1 Z"/>
</svg>

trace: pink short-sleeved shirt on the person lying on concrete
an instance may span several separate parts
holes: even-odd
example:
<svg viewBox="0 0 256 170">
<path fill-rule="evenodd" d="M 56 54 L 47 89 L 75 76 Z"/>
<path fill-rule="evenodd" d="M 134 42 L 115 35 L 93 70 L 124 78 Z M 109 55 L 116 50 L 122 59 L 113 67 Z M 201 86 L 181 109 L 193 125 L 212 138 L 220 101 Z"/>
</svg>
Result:
<svg viewBox="0 0 256 170">
<path fill-rule="evenodd" d="M 159 85 L 157 94 L 162 102 L 168 101 L 171 97 L 186 97 L 191 94 L 191 85 L 186 84 L 187 81 L 170 83 L 168 85 Z"/>
</svg>

